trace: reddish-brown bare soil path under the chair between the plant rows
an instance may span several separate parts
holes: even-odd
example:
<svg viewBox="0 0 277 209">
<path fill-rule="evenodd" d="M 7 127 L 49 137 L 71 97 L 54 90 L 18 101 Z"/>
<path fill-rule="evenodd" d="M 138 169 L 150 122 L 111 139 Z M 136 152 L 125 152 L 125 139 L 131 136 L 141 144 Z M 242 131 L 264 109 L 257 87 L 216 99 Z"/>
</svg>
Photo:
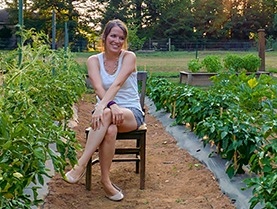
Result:
<svg viewBox="0 0 277 209">
<path fill-rule="evenodd" d="M 87 97 L 88 95 L 86 95 Z M 85 98 L 85 97 L 84 97 Z M 85 145 L 85 129 L 91 119 L 92 102 L 77 104 L 78 124 L 73 128 L 81 145 Z M 147 113 L 147 150 L 145 189 L 139 189 L 135 163 L 113 163 L 110 177 L 125 195 L 120 202 L 105 198 L 100 183 L 99 164 L 92 167 L 92 190 L 85 188 L 85 178 L 68 184 L 60 174 L 49 182 L 44 209 L 234 209 L 232 201 L 222 193 L 213 174 L 184 149 L 176 145 L 156 118 Z M 78 152 L 78 156 L 81 152 Z M 70 168 L 68 167 L 67 170 Z"/>
</svg>

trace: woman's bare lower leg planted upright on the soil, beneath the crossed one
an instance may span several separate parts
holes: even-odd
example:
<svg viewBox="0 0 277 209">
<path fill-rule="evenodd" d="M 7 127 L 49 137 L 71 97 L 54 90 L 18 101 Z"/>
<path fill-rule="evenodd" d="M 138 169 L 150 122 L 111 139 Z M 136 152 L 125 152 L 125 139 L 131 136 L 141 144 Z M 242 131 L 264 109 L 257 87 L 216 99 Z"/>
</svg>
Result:
<svg viewBox="0 0 277 209">
<path fill-rule="evenodd" d="M 118 191 L 112 186 L 109 173 L 114 157 L 117 126 L 110 125 L 103 142 L 99 146 L 99 160 L 101 167 L 101 182 L 108 196 L 115 195 Z"/>
</svg>

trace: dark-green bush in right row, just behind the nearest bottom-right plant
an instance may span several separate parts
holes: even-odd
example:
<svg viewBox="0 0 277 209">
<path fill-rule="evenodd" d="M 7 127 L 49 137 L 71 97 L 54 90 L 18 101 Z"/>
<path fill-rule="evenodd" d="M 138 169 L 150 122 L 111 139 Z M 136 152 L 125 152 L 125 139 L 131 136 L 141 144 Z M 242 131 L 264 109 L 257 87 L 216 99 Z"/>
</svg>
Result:
<svg viewBox="0 0 277 209">
<path fill-rule="evenodd" d="M 197 135 L 208 138 L 203 140 L 204 145 L 217 145 L 217 153 L 230 162 L 226 169 L 230 178 L 244 173 L 243 166 L 262 145 L 259 128 L 252 126 L 254 122 L 243 110 L 232 108 L 205 118 L 197 126 Z"/>
</svg>

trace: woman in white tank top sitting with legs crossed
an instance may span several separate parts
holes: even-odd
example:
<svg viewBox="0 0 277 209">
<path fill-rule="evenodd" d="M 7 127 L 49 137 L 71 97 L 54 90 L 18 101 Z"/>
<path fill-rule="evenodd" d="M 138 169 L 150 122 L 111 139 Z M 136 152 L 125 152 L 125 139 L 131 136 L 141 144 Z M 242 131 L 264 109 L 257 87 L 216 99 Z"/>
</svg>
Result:
<svg viewBox="0 0 277 209">
<path fill-rule="evenodd" d="M 127 36 L 128 30 L 122 21 L 109 21 L 102 33 L 104 51 L 87 60 L 97 105 L 84 153 L 78 164 L 66 173 L 67 182 L 77 183 L 83 177 L 92 154 L 99 148 L 101 183 L 106 197 L 113 201 L 124 198 L 109 177 L 116 134 L 136 130 L 144 120 L 137 90 L 136 56 L 124 50 Z"/>
</svg>

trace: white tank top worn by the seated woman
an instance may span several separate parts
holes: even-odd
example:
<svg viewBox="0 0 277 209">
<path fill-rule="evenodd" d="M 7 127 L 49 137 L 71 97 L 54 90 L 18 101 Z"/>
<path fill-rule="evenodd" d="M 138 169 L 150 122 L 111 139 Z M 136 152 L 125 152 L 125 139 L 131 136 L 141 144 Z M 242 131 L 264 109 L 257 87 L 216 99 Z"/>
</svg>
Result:
<svg viewBox="0 0 277 209">
<path fill-rule="evenodd" d="M 102 79 L 102 84 L 104 89 L 107 91 L 121 70 L 124 51 L 122 51 L 119 56 L 118 67 L 116 72 L 113 75 L 108 74 L 107 71 L 105 70 L 103 55 L 104 55 L 103 53 L 100 53 L 97 56 L 100 63 L 100 76 Z M 97 101 L 98 103 L 100 102 L 98 97 L 97 97 Z M 133 72 L 127 78 L 125 83 L 121 86 L 121 88 L 115 95 L 114 101 L 121 107 L 137 108 L 142 112 L 142 109 L 140 106 L 139 93 L 138 93 L 137 72 Z"/>
</svg>

